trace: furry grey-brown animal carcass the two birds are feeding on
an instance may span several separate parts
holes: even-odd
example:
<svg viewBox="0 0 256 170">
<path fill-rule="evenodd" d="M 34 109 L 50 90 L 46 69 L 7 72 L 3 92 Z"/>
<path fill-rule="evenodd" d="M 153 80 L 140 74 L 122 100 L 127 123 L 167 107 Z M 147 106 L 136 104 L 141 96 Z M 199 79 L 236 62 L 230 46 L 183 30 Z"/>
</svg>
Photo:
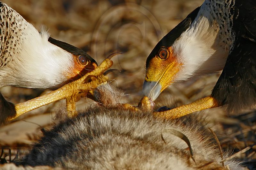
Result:
<svg viewBox="0 0 256 170">
<path fill-rule="evenodd" d="M 198 130 L 196 122 L 188 125 L 164 121 L 151 113 L 125 110 L 116 97 L 122 93 L 109 85 L 100 87 L 96 94 L 101 96 L 99 103 L 46 131 L 17 165 L 67 169 L 226 169 L 219 163 L 218 148 Z M 196 163 L 180 138 L 164 133 L 164 143 L 161 131 L 165 128 L 178 129 L 188 137 Z M 239 169 L 236 162 L 228 161 L 225 165 Z"/>
</svg>

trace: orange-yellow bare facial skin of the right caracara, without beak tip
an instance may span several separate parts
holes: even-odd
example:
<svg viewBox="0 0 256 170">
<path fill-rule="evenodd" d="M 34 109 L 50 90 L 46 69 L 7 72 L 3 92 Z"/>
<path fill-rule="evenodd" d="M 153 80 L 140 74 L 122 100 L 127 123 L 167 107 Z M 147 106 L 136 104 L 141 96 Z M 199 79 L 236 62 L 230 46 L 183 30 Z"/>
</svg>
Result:
<svg viewBox="0 0 256 170">
<path fill-rule="evenodd" d="M 167 51 L 166 57 L 160 56 L 161 49 Z M 178 63 L 177 58 L 173 55 L 172 47 L 161 47 L 156 56 L 149 61 L 145 81 L 160 83 L 162 92 L 172 84 L 173 77 L 181 67 L 182 63 Z"/>
</svg>

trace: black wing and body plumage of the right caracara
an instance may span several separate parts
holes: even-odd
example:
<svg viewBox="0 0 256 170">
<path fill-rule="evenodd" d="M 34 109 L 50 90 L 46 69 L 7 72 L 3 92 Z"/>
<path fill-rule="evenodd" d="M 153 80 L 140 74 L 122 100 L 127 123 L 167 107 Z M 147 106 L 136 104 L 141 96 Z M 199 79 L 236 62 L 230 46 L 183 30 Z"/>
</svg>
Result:
<svg viewBox="0 0 256 170">
<path fill-rule="evenodd" d="M 236 41 L 212 91 L 231 112 L 256 106 L 256 1 L 237 0 L 233 11 Z"/>
</svg>

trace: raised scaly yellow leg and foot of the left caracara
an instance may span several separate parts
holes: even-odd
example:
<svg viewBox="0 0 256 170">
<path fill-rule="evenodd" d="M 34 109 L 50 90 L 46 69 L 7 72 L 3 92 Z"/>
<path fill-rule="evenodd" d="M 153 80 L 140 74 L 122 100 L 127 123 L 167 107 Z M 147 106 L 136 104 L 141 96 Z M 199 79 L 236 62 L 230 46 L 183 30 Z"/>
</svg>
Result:
<svg viewBox="0 0 256 170">
<path fill-rule="evenodd" d="M 79 94 L 81 94 L 81 92 L 87 93 L 88 91 L 92 91 L 100 84 L 106 82 L 108 77 L 104 76 L 103 73 L 112 65 L 113 62 L 107 58 L 100 64 L 100 66 L 85 74 L 82 78 L 70 82 L 67 85 L 64 85 L 48 94 L 15 105 L 16 115 L 9 118 L 7 121 L 13 120 L 20 115 L 27 113 L 28 111 L 61 99 L 67 99 L 68 116 L 76 115 L 76 111 L 74 111 L 76 108 L 75 101 L 79 99 Z M 89 80 L 92 81 L 88 82 Z"/>
</svg>

